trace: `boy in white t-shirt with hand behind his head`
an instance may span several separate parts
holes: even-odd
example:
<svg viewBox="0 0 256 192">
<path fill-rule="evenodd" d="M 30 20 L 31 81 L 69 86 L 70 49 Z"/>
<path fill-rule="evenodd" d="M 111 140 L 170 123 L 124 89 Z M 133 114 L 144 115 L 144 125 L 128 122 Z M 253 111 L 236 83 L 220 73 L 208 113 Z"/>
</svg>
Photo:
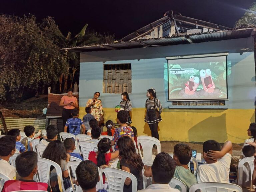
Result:
<svg viewBox="0 0 256 192">
<path fill-rule="evenodd" d="M 231 141 L 226 141 L 221 149 L 217 141 L 205 141 L 203 143 L 203 157 L 207 164 L 197 168 L 197 182 L 229 183 L 231 155 Z"/>
</svg>

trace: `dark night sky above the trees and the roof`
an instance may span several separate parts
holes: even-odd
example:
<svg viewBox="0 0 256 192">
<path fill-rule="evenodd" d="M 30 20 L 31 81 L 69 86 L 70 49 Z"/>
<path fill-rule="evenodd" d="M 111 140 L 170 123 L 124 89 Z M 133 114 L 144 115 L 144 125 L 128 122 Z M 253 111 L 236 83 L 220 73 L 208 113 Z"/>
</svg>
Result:
<svg viewBox="0 0 256 192">
<path fill-rule="evenodd" d="M 88 23 L 89 29 L 115 34 L 120 39 L 163 17 L 167 10 L 233 27 L 256 0 L 1 0 L 0 13 L 38 21 L 52 16 L 64 35 L 76 35 Z"/>
</svg>

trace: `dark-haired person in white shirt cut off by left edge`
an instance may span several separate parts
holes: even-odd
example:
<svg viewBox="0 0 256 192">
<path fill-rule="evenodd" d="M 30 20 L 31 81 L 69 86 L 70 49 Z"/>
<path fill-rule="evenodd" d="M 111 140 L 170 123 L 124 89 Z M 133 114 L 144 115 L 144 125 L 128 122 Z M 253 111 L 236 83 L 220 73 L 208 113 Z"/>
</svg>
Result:
<svg viewBox="0 0 256 192">
<path fill-rule="evenodd" d="M 12 136 L 0 138 L 0 173 L 8 176 L 10 179 L 16 179 L 16 169 L 9 164 L 9 159 L 16 151 L 16 140 Z"/>
</svg>

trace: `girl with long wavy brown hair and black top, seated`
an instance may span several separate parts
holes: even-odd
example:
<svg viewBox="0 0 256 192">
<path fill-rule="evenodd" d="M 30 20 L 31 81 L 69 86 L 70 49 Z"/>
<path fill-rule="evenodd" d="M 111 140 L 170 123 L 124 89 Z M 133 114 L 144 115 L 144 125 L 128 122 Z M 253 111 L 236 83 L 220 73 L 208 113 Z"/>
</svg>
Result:
<svg viewBox="0 0 256 192">
<path fill-rule="evenodd" d="M 117 146 L 121 169 L 130 172 L 137 178 L 137 190 L 143 189 L 142 169 L 144 164 L 141 157 L 136 153 L 133 140 L 128 136 L 123 136 L 118 139 Z M 127 177 L 124 184 L 124 192 L 131 192 L 131 179 Z"/>
</svg>

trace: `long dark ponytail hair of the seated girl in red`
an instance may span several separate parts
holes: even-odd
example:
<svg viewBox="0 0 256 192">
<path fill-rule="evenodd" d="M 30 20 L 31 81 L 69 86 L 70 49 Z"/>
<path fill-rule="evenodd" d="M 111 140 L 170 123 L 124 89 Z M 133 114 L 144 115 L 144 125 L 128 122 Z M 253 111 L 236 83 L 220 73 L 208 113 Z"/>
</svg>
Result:
<svg viewBox="0 0 256 192">
<path fill-rule="evenodd" d="M 110 139 L 104 137 L 98 143 L 98 156 L 97 156 L 97 166 L 106 165 L 105 153 L 109 151 L 111 147 Z"/>
</svg>

